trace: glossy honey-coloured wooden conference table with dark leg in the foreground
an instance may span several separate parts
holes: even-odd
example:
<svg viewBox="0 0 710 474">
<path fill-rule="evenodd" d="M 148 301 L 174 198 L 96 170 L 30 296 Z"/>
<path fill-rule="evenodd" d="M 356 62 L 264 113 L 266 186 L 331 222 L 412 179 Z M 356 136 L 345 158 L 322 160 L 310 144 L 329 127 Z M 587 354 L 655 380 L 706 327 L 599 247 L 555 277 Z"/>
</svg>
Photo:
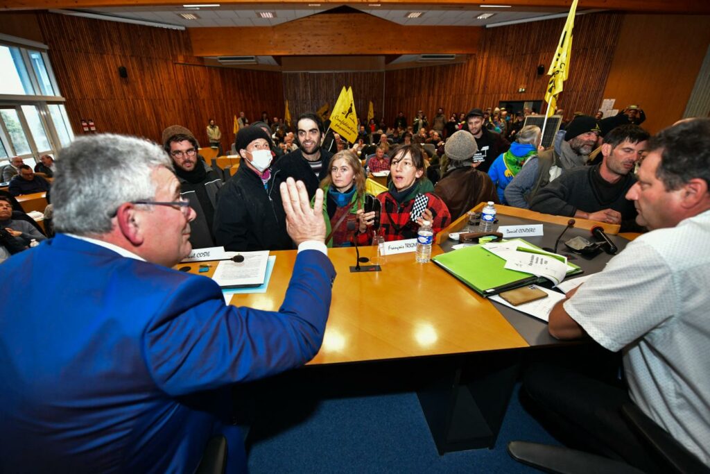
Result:
<svg viewBox="0 0 710 474">
<path fill-rule="evenodd" d="M 506 206 L 496 209 L 499 225 L 542 222 L 545 236 L 526 238 L 540 247 L 552 247 L 569 219 Z M 569 230 L 564 240 L 589 236 L 588 229 L 596 224 L 577 220 L 576 228 Z M 466 215 L 440 232 L 441 245 L 434 246 L 432 256 L 449 250 L 455 243 L 447 239 L 449 232 L 465 226 Z M 618 226 L 605 227 L 618 232 Z M 625 246 L 625 240 L 611 238 L 619 249 Z M 268 291 L 236 294 L 231 304 L 278 311 L 296 252 L 271 254 L 276 261 Z M 376 247 L 361 247 L 360 254 L 376 259 Z M 323 345 L 309 365 L 433 360 L 437 375 L 423 381 L 417 395 L 439 453 L 492 447 L 517 375 L 519 351 L 559 344 L 547 334 L 547 325 L 478 296 L 433 263 L 417 264 L 413 253 L 387 256 L 382 271 L 361 273 L 349 271 L 356 263 L 353 248 L 329 249 L 328 255 L 337 278 Z M 574 263 L 585 273 L 595 272 L 608 258 L 600 254 Z M 197 273 L 198 263 L 187 265 Z M 210 276 L 212 271 L 214 267 L 202 275 Z M 484 370 L 480 377 L 474 375 L 464 382 L 461 374 L 464 366 L 470 365 L 471 355 L 488 357 L 486 365 L 496 365 L 495 370 Z M 506 362 L 498 365 L 491 360 Z"/>
</svg>

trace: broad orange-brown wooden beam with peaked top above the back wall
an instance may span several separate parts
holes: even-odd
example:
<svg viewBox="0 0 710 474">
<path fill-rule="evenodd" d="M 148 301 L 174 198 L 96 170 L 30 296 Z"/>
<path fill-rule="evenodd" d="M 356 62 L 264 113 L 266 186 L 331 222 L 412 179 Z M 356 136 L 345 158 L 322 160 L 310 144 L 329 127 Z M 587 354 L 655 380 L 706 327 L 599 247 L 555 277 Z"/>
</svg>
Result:
<svg viewBox="0 0 710 474">
<path fill-rule="evenodd" d="M 368 14 L 187 30 L 195 56 L 475 54 L 481 31 L 479 26 L 402 26 Z"/>
</svg>

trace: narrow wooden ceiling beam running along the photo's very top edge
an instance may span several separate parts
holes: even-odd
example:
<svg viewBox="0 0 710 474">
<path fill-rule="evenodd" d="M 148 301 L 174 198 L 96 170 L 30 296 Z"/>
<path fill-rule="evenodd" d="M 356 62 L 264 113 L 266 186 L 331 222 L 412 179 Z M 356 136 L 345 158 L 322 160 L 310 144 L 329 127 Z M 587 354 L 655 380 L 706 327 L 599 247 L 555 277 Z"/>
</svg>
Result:
<svg viewBox="0 0 710 474">
<path fill-rule="evenodd" d="M 200 3 L 192 2 L 190 3 Z M 202 3 L 219 3 L 223 6 L 249 6 L 268 5 L 258 0 L 217 0 L 216 2 L 203 1 Z M 323 7 L 337 6 L 344 3 L 349 6 L 367 6 L 372 0 L 332 1 L 318 0 Z M 470 0 L 378 0 L 384 8 L 395 5 L 422 5 L 429 9 L 436 6 L 471 6 Z M 274 5 L 284 4 L 307 5 L 303 0 L 282 0 Z M 510 6 L 532 8 L 562 8 L 569 9 L 572 0 L 479 0 L 474 4 L 505 4 Z M 27 9 L 82 9 L 99 6 L 177 6 L 180 1 L 175 0 L 0 0 L 0 9 L 27 10 Z M 633 11 L 640 13 L 669 13 L 669 14 L 710 14 L 710 1 L 708 0 L 581 0 L 580 9 L 606 9 L 617 11 Z"/>
</svg>

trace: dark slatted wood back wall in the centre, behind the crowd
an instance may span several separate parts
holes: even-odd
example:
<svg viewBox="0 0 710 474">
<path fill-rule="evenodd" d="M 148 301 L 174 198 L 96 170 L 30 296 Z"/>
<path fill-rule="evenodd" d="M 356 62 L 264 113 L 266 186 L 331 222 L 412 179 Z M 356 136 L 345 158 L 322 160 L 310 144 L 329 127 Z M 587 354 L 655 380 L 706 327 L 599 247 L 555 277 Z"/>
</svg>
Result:
<svg viewBox="0 0 710 474">
<path fill-rule="evenodd" d="M 384 81 L 384 71 L 283 73 L 283 89 L 294 120 L 303 112 L 315 112 L 326 102 L 334 107 L 343 86 L 352 87 L 358 118 L 366 122 L 369 101 L 375 116 L 381 117 Z"/>
</svg>

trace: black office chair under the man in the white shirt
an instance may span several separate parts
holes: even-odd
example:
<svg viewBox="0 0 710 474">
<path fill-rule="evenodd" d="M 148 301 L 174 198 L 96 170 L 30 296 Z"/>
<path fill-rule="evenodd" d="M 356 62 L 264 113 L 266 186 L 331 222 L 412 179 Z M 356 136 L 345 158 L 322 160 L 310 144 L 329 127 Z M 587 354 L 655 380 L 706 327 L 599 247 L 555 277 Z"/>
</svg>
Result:
<svg viewBox="0 0 710 474">
<path fill-rule="evenodd" d="M 643 414 L 635 404 L 624 404 L 623 415 L 638 430 L 640 437 L 657 453 L 666 473 L 708 474 L 710 468 L 682 446 L 655 421 Z M 618 460 L 604 458 L 562 446 L 549 446 L 528 441 L 510 441 L 508 454 L 519 463 L 559 474 L 638 474 L 643 471 Z"/>
</svg>

